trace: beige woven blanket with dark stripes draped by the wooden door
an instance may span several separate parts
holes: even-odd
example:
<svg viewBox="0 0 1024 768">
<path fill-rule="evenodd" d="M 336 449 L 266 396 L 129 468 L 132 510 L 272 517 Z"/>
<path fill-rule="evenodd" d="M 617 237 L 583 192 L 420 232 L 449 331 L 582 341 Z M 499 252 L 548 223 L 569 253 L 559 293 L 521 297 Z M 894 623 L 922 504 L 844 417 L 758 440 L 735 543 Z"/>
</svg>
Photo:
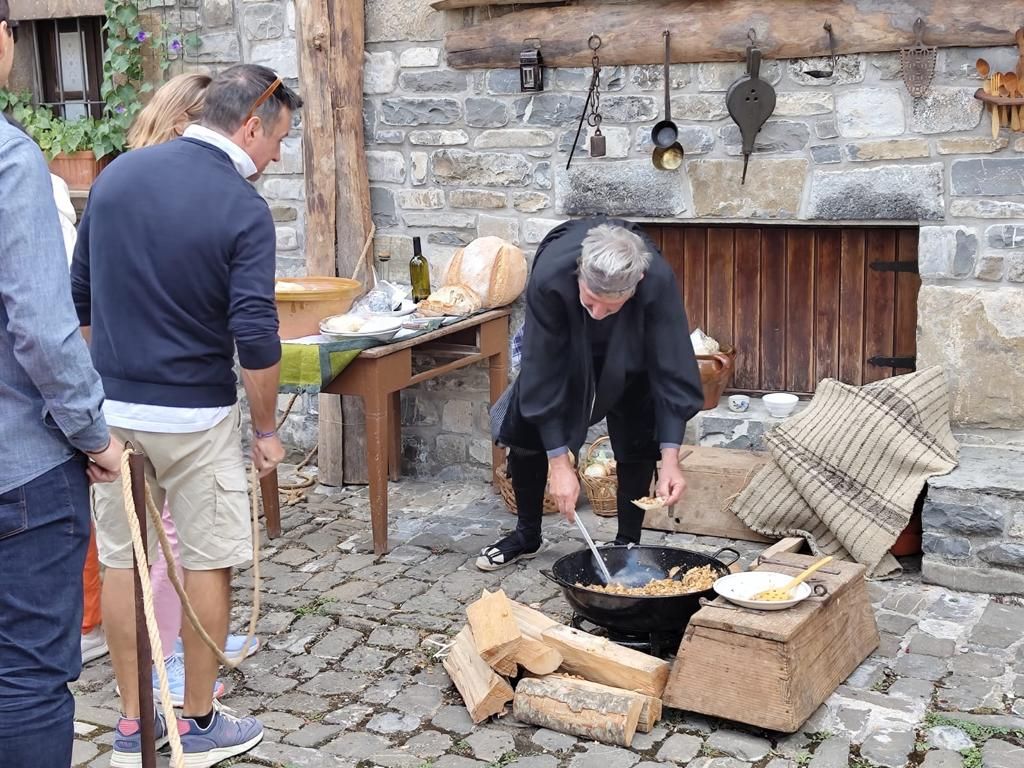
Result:
<svg viewBox="0 0 1024 768">
<path fill-rule="evenodd" d="M 732 511 L 765 536 L 800 536 L 816 554 L 881 578 L 925 482 L 956 466 L 940 368 L 862 387 L 822 381 L 814 399 L 765 437 L 770 461 Z"/>
</svg>

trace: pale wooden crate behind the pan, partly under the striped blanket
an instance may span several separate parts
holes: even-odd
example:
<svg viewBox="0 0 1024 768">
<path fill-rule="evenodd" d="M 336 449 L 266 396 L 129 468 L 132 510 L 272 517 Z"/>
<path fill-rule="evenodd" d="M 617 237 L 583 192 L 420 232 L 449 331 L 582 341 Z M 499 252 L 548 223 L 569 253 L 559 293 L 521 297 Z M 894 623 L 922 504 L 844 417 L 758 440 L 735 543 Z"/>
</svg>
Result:
<svg viewBox="0 0 1024 768">
<path fill-rule="evenodd" d="M 645 528 L 698 536 L 717 536 L 744 542 L 770 542 L 741 523 L 728 507 L 736 494 L 768 461 L 766 454 L 736 449 L 694 447 L 680 468 L 686 493 L 677 504 L 652 509 L 644 516 Z"/>
</svg>

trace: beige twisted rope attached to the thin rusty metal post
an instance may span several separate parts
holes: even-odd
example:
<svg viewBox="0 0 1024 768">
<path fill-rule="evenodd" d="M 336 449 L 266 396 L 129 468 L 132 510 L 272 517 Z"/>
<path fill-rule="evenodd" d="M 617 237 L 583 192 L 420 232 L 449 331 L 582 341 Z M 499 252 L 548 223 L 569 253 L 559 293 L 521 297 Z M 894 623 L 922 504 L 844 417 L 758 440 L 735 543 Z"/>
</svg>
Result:
<svg viewBox="0 0 1024 768">
<path fill-rule="evenodd" d="M 157 678 L 160 682 L 160 703 L 161 709 L 164 712 L 164 719 L 167 724 L 167 733 L 171 742 L 171 768 L 184 768 L 184 757 L 181 752 L 181 739 L 178 735 L 177 722 L 174 718 L 174 708 L 171 705 L 171 689 L 167 682 L 167 668 L 164 664 L 164 648 L 160 642 L 160 631 L 157 627 L 157 615 L 153 607 L 153 584 L 150 581 L 148 554 L 142 546 L 142 530 L 138 523 L 138 516 L 135 510 L 135 500 L 131 493 L 131 470 L 128 466 L 128 457 L 131 456 L 131 454 L 132 451 L 129 449 L 121 455 L 121 488 L 125 499 L 125 511 L 128 514 L 128 526 L 131 529 L 132 549 L 135 552 L 135 560 L 138 563 L 139 584 L 142 587 L 142 612 L 145 615 L 146 633 L 150 636 L 150 647 L 154 651 L 154 664 L 156 665 Z M 145 508 L 150 513 L 150 519 L 153 521 L 154 527 L 157 530 L 160 548 L 164 553 L 164 559 L 169 565 L 167 568 L 167 575 L 170 578 L 171 584 L 174 585 L 174 591 L 178 594 L 184 614 L 188 617 L 188 622 L 191 624 L 193 629 L 196 630 L 196 634 L 198 634 L 206 646 L 213 651 L 217 660 L 228 669 L 237 669 L 239 665 L 245 660 L 245 653 L 242 653 L 237 659 L 228 658 L 224 655 L 223 648 L 215 643 L 206 630 L 203 629 L 203 624 L 200 622 L 199 616 L 196 615 L 196 610 L 193 608 L 191 602 L 188 600 L 188 595 L 185 594 L 181 580 L 178 579 L 177 568 L 173 566 L 174 553 L 171 551 L 171 543 L 167 539 L 167 534 L 164 531 L 160 510 L 157 509 L 157 505 L 153 501 L 153 495 L 150 493 L 148 486 L 143 483 L 143 487 L 145 489 Z M 242 646 L 243 648 L 248 648 L 252 643 L 253 638 L 256 636 L 256 622 L 259 618 L 259 474 L 257 473 L 255 466 L 252 468 L 252 472 L 250 473 L 249 493 L 250 506 L 252 509 L 253 605 L 252 611 L 249 615 L 249 632 L 246 636 L 246 642 Z"/>
</svg>

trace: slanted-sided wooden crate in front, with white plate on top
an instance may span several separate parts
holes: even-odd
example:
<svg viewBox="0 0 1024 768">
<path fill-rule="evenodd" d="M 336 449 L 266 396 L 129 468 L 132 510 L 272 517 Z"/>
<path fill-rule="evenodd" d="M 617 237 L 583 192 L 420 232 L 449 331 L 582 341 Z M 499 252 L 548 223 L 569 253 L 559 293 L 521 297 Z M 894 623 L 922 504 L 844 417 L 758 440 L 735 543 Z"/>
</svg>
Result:
<svg viewBox="0 0 1024 768">
<path fill-rule="evenodd" d="M 796 575 L 817 558 L 777 554 L 756 569 Z M 690 620 L 663 694 L 666 707 L 796 732 L 879 646 L 863 565 L 833 562 L 812 581 L 828 595 L 780 611 L 722 598 Z"/>
</svg>

